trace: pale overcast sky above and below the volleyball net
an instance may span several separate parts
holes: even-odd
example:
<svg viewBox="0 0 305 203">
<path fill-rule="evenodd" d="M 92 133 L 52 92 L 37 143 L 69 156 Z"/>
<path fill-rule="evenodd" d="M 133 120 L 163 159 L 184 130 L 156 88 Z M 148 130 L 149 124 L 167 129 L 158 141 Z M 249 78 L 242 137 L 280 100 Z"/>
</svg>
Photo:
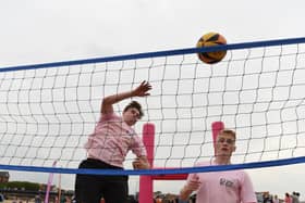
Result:
<svg viewBox="0 0 305 203">
<path fill-rule="evenodd" d="M 0 67 L 191 48 L 208 31 L 229 43 L 304 37 L 304 7 L 303 0 L 2 0 Z M 304 164 L 248 173 L 257 191 L 305 195 Z M 174 185 L 158 181 L 155 190 L 178 192 Z"/>
</svg>

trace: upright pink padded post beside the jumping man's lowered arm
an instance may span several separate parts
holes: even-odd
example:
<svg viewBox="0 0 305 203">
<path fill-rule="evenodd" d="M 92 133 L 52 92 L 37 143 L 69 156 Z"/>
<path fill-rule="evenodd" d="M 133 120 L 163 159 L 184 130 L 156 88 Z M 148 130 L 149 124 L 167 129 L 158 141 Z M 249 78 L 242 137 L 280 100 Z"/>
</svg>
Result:
<svg viewBox="0 0 305 203">
<path fill-rule="evenodd" d="M 155 125 L 145 124 L 143 126 L 143 142 L 146 147 L 147 158 L 151 166 L 154 167 L 154 148 L 155 148 Z M 139 203 L 152 203 L 154 202 L 154 186 L 152 179 L 150 176 L 141 176 L 139 177 Z"/>
</svg>

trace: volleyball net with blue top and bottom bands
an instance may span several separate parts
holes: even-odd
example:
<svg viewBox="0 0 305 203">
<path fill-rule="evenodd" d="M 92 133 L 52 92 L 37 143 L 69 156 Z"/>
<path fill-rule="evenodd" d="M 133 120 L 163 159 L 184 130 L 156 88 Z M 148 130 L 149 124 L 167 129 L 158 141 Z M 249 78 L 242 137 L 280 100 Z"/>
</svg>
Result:
<svg viewBox="0 0 305 203">
<path fill-rule="evenodd" d="M 135 98 L 155 126 L 154 166 L 122 175 L 187 174 L 305 162 L 305 38 L 232 43 L 0 68 L 0 168 L 63 174 L 77 169 L 103 97 L 147 80 Z M 219 63 L 197 52 L 228 50 Z M 121 114 L 130 100 L 114 104 Z M 236 131 L 233 165 L 193 167 L 213 157 L 211 125 Z M 151 147 L 151 145 L 150 145 Z M 54 167 L 57 162 L 61 167 Z"/>
</svg>

